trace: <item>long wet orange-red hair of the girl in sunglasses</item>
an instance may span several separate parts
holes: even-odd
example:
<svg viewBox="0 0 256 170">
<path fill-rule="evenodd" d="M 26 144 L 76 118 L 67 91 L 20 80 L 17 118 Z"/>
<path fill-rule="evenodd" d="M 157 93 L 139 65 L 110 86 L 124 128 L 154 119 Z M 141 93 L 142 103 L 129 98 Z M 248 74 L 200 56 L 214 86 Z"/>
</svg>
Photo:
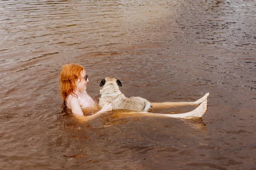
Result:
<svg viewBox="0 0 256 170">
<path fill-rule="evenodd" d="M 85 70 L 83 66 L 74 63 L 62 66 L 60 83 L 63 107 L 66 106 L 66 100 L 70 94 L 77 97 L 73 91 L 76 91 L 76 81 L 80 78 L 83 70 Z"/>
</svg>

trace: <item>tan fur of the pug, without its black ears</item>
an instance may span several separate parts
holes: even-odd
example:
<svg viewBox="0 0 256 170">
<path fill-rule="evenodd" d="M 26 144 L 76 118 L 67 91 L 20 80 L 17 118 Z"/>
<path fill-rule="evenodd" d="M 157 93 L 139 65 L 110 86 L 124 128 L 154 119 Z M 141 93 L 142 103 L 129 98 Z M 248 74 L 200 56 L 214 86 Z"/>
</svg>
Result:
<svg viewBox="0 0 256 170">
<path fill-rule="evenodd" d="M 119 90 L 114 77 L 106 77 L 105 84 L 100 88 L 101 97 L 99 107 L 102 108 L 106 102 L 112 103 L 113 110 L 122 109 L 128 111 L 151 111 L 151 104 L 141 97 L 125 97 Z"/>
</svg>

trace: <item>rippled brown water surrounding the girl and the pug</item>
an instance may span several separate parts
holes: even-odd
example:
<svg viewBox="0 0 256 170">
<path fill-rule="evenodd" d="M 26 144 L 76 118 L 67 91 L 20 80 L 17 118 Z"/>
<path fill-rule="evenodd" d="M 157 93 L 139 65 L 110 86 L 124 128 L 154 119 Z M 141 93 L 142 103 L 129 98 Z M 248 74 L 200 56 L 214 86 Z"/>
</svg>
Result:
<svg viewBox="0 0 256 170">
<path fill-rule="evenodd" d="M 0 1 L 3 169 L 256 169 L 256 1 Z M 126 96 L 194 101 L 202 120 L 64 113 L 61 66 Z M 183 113 L 193 108 L 154 110 Z"/>
</svg>

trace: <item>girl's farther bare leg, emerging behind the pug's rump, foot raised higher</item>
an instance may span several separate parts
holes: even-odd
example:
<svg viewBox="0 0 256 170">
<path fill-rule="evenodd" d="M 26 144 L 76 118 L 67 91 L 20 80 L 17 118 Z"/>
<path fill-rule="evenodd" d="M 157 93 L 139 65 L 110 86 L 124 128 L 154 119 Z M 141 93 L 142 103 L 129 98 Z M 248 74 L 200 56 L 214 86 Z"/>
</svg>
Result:
<svg viewBox="0 0 256 170">
<path fill-rule="evenodd" d="M 209 96 L 209 93 L 205 94 L 201 99 L 198 99 L 195 102 L 163 102 L 163 103 L 151 103 L 153 108 L 171 108 L 171 107 L 177 107 L 177 106 L 198 106 L 202 102 L 204 102 L 205 99 L 207 99 Z"/>
</svg>

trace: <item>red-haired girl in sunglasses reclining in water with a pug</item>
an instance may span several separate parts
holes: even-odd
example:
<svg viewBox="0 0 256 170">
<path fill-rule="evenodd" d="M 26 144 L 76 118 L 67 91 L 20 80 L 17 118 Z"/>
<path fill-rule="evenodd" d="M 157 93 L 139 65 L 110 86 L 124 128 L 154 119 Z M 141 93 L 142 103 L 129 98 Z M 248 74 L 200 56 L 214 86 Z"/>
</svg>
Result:
<svg viewBox="0 0 256 170">
<path fill-rule="evenodd" d="M 63 98 L 63 106 L 70 108 L 73 115 L 82 121 L 88 121 L 99 117 L 102 113 L 112 111 L 112 104 L 106 103 L 100 111 L 91 115 L 84 116 L 82 109 L 96 108 L 97 104 L 87 94 L 87 82 L 89 82 L 88 76 L 84 67 L 76 64 L 66 64 L 63 66 L 61 71 L 61 95 Z M 173 106 L 185 106 L 185 105 L 196 105 L 198 106 L 195 110 L 188 113 L 180 114 L 158 114 L 148 112 L 129 112 L 135 113 L 147 113 L 148 116 L 168 116 L 175 118 L 190 119 L 193 117 L 202 117 L 207 110 L 207 97 L 209 93 L 205 94 L 201 99 L 195 102 L 163 102 L 163 103 L 151 103 L 153 108 L 169 108 Z"/>
</svg>

